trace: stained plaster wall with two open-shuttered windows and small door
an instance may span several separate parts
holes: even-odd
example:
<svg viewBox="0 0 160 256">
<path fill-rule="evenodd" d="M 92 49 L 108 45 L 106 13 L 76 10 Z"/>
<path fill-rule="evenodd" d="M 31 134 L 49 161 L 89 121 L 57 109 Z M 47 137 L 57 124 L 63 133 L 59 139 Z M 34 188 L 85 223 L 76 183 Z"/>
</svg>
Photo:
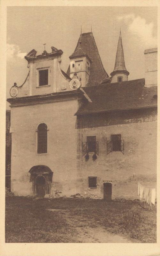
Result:
<svg viewBox="0 0 160 256">
<path fill-rule="evenodd" d="M 153 114 L 153 113 L 152 113 Z M 105 117 L 95 126 L 77 129 L 77 180 L 79 193 L 85 197 L 103 198 L 103 183 L 112 183 L 112 199 L 116 197 L 138 198 L 138 182 L 156 186 L 156 116 L 146 113 L 141 118 L 124 116 L 121 122 L 114 124 Z M 86 119 L 87 116 L 85 117 Z M 93 117 L 94 118 L 94 117 Z M 122 120 L 123 119 L 123 120 Z M 119 121 L 119 122 L 118 122 Z M 81 123 L 81 127 L 85 125 Z M 80 126 L 79 126 L 80 127 Z M 124 154 L 110 152 L 107 155 L 107 140 L 111 134 L 121 134 L 124 140 Z M 93 161 L 94 153 L 89 153 L 86 161 L 82 153 L 82 142 L 87 136 L 96 136 L 99 144 L 99 155 Z M 88 177 L 97 177 L 97 188 L 88 188 Z"/>
</svg>

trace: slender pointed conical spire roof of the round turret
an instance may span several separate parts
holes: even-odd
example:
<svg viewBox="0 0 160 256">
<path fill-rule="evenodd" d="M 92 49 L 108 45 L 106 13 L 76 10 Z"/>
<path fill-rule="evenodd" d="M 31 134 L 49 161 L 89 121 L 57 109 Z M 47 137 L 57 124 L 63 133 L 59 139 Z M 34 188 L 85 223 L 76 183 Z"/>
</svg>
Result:
<svg viewBox="0 0 160 256">
<path fill-rule="evenodd" d="M 119 73 L 119 71 L 122 71 L 122 73 L 125 73 L 126 75 L 129 75 L 129 72 L 126 70 L 126 66 L 125 66 L 125 58 L 124 58 L 123 45 L 122 45 L 121 29 L 120 29 L 120 33 L 119 33 L 119 40 L 118 40 L 115 66 L 114 66 L 113 72 L 110 75 L 113 76 L 116 73 Z"/>
</svg>

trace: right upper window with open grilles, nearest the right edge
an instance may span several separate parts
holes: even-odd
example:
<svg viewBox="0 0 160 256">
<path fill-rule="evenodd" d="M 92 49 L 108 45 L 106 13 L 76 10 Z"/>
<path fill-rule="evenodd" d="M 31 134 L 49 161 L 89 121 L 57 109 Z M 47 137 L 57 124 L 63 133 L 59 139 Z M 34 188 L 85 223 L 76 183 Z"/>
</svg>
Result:
<svg viewBox="0 0 160 256">
<path fill-rule="evenodd" d="M 111 140 L 107 140 L 107 155 L 112 151 L 121 151 L 124 154 L 124 140 L 121 140 L 121 134 L 112 134 Z"/>
</svg>

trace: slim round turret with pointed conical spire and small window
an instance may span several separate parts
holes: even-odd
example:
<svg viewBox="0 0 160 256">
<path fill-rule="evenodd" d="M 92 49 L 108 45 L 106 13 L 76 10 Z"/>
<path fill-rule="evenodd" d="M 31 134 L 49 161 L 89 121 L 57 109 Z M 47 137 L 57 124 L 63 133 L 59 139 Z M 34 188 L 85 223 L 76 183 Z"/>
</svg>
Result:
<svg viewBox="0 0 160 256">
<path fill-rule="evenodd" d="M 113 72 L 110 73 L 110 75 L 111 75 L 111 83 L 128 81 L 129 72 L 126 70 L 126 66 L 125 66 L 121 31 L 119 34 L 115 66 L 114 66 Z"/>
</svg>

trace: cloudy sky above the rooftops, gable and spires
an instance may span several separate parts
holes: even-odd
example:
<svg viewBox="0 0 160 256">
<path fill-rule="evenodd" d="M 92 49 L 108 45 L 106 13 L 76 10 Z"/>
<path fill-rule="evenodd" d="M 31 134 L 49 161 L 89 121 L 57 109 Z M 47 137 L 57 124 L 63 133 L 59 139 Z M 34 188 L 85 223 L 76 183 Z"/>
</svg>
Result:
<svg viewBox="0 0 160 256">
<path fill-rule="evenodd" d="M 107 73 L 114 69 L 121 28 L 129 80 L 144 77 L 144 50 L 157 46 L 156 7 L 7 7 L 7 97 L 14 82 L 20 86 L 28 73 L 24 56 L 32 49 L 41 54 L 46 43 L 61 49 L 62 69 L 82 33 L 92 32 Z M 9 104 L 7 104 L 9 108 Z"/>
</svg>

